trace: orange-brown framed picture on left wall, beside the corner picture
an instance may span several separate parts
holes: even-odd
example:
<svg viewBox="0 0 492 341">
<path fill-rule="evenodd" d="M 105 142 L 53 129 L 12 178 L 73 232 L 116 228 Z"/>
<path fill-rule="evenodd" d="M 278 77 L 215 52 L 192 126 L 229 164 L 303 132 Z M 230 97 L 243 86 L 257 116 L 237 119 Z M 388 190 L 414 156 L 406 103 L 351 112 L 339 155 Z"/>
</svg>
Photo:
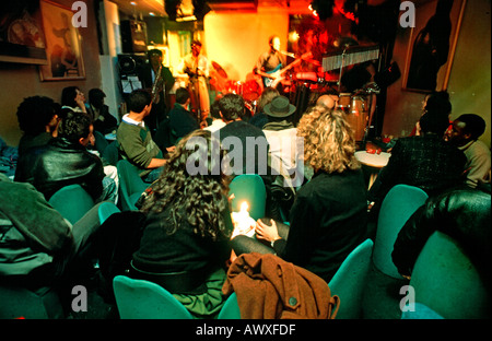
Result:
<svg viewBox="0 0 492 341">
<path fill-rule="evenodd" d="M 58 3 L 42 0 L 40 12 L 48 63 L 39 67 L 42 81 L 85 78 L 79 30 L 72 25 L 73 12 Z"/>
</svg>

